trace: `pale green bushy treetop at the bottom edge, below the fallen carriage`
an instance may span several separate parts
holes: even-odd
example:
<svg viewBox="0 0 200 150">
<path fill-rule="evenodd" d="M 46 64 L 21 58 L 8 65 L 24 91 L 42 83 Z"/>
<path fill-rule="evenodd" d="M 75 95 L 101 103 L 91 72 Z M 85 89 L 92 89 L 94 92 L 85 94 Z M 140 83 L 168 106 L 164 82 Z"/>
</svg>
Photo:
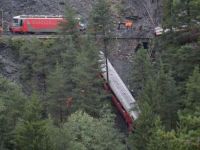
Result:
<svg viewBox="0 0 200 150">
<path fill-rule="evenodd" d="M 63 128 L 70 138 L 70 150 L 125 149 L 121 142 L 122 136 L 112 123 L 94 119 L 84 112 L 72 114 Z"/>
</svg>

